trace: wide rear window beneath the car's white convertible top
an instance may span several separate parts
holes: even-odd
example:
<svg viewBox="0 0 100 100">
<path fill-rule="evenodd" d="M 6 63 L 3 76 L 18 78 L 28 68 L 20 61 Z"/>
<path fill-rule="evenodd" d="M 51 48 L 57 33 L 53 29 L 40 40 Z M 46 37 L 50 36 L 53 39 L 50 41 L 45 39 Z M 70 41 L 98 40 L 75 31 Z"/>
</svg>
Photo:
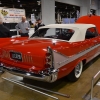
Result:
<svg viewBox="0 0 100 100">
<path fill-rule="evenodd" d="M 32 37 L 42 37 L 42 38 L 55 38 L 69 41 L 74 34 L 72 29 L 64 28 L 43 28 L 37 30 Z"/>
</svg>

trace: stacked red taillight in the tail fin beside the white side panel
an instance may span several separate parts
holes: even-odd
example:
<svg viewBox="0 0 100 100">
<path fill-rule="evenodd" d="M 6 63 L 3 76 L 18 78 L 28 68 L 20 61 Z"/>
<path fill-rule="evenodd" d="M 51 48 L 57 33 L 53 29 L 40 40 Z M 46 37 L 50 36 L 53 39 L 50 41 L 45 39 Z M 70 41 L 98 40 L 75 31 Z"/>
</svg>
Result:
<svg viewBox="0 0 100 100">
<path fill-rule="evenodd" d="M 46 62 L 45 63 L 46 68 L 51 68 L 53 66 L 53 54 L 52 54 L 52 50 L 50 47 L 47 48 L 45 62 Z"/>
</svg>

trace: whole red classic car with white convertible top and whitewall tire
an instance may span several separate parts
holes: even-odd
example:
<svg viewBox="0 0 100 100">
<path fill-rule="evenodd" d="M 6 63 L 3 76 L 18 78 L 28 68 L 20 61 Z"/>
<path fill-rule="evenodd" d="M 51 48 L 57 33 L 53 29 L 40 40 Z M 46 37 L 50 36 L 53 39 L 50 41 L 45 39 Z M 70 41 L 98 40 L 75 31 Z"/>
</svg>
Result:
<svg viewBox="0 0 100 100">
<path fill-rule="evenodd" d="M 93 24 L 51 24 L 0 52 L 4 71 L 46 82 L 64 76 L 76 81 L 83 66 L 100 54 L 100 36 Z"/>
</svg>

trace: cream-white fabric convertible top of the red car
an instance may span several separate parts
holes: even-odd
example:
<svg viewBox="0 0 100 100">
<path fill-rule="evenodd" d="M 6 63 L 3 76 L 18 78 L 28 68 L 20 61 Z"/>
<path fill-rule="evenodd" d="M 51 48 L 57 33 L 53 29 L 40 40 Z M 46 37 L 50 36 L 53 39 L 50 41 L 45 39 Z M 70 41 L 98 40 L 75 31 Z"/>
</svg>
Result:
<svg viewBox="0 0 100 100">
<path fill-rule="evenodd" d="M 69 42 L 77 42 L 77 41 L 84 41 L 85 40 L 85 34 L 88 28 L 96 27 L 93 24 L 50 24 L 43 27 L 40 27 L 39 29 L 43 28 L 66 28 L 66 29 L 73 29 L 75 33 L 69 40 Z"/>
</svg>

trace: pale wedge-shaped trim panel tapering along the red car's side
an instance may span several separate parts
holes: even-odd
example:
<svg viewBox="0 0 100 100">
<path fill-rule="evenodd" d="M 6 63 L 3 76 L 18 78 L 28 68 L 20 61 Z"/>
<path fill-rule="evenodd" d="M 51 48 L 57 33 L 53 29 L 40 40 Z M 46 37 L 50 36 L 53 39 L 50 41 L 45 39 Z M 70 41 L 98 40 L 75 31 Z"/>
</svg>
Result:
<svg viewBox="0 0 100 100">
<path fill-rule="evenodd" d="M 89 53 L 90 51 L 94 50 L 95 48 L 97 48 L 99 46 L 100 46 L 100 44 L 97 44 L 97 45 L 95 45 L 93 47 L 90 47 L 90 48 L 88 48 L 88 49 L 86 49 L 86 50 L 84 50 L 82 52 L 79 52 L 79 53 L 77 53 L 75 55 L 72 55 L 72 56 L 69 56 L 69 57 L 66 56 L 66 55 L 63 55 L 63 54 L 61 54 L 59 52 L 53 51 L 54 68 L 55 69 L 61 68 L 62 66 L 66 65 L 66 64 L 68 64 L 68 63 L 70 63 L 70 62 L 72 62 L 72 61 L 74 61 L 74 60 L 76 60 L 76 59 L 78 59 L 78 58 L 80 58 L 80 57 L 82 57 L 84 55 L 86 55 L 87 53 Z M 99 55 L 100 52 L 99 53 L 97 52 L 96 54 Z M 94 57 L 95 57 L 95 55 L 93 55 L 93 58 Z"/>
</svg>

